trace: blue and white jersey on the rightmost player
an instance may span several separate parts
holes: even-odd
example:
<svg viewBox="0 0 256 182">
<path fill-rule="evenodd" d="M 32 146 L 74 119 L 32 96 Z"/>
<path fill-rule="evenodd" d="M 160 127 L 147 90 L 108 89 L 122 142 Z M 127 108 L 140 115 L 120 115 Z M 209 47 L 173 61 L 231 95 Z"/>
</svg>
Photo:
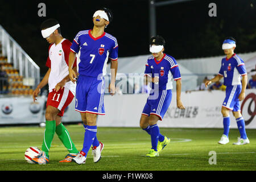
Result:
<svg viewBox="0 0 256 182">
<path fill-rule="evenodd" d="M 241 76 L 247 75 L 245 63 L 236 54 L 227 59 L 226 57 L 221 60 L 221 68 L 218 75 L 224 77 L 224 85 L 241 85 Z"/>
</svg>

